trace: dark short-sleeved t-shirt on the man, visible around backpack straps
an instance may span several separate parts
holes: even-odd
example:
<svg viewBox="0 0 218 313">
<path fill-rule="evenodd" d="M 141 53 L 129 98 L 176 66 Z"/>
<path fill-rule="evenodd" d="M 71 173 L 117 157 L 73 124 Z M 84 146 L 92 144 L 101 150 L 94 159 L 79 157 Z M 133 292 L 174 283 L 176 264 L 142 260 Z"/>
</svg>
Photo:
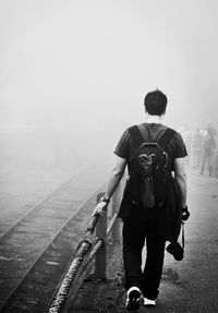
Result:
<svg viewBox="0 0 218 313">
<path fill-rule="evenodd" d="M 137 127 L 142 134 L 146 134 L 149 142 L 157 142 L 167 130 L 167 127 L 160 123 L 142 123 Z M 128 165 L 130 165 L 134 152 L 135 147 L 131 134 L 129 130 L 125 130 L 114 149 L 114 154 L 119 157 L 125 158 L 128 160 Z M 168 144 L 168 152 L 170 155 L 169 161 L 171 162 L 169 168 L 173 170 L 173 159 L 187 156 L 186 147 L 180 133 L 175 132 L 171 137 Z"/>
</svg>

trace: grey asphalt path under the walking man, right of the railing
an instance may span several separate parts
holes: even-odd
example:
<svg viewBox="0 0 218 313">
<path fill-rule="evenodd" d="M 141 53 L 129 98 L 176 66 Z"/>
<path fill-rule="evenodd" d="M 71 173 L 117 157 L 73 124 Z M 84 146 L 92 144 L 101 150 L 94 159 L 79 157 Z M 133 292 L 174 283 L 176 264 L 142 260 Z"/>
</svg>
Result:
<svg viewBox="0 0 218 313">
<path fill-rule="evenodd" d="M 157 305 L 141 305 L 140 312 L 218 312 L 218 179 L 189 170 L 187 181 L 184 258 L 166 252 Z M 109 246 L 108 254 L 108 280 L 85 282 L 70 312 L 125 312 L 121 245 Z"/>
</svg>

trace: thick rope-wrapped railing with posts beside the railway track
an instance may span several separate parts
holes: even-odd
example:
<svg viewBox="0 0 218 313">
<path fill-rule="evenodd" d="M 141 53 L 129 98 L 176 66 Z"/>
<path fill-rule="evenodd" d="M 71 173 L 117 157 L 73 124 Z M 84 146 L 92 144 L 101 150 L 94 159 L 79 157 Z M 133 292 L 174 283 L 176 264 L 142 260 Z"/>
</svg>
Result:
<svg viewBox="0 0 218 313">
<path fill-rule="evenodd" d="M 104 193 L 98 194 L 97 202 L 102 195 Z M 113 228 L 117 229 L 112 233 L 112 241 L 116 243 L 119 242 L 119 224 L 117 220 L 118 200 L 116 197 L 117 194 L 113 196 L 112 217 L 108 228 L 107 213 L 104 216 L 94 215 L 90 218 L 85 234 L 77 243 L 73 261 L 55 293 L 48 313 L 68 312 L 70 301 L 73 301 L 84 279 L 92 269 L 94 257 L 95 272 L 90 277 L 106 279 L 106 241 Z M 94 236 L 95 230 L 96 233 Z"/>
</svg>

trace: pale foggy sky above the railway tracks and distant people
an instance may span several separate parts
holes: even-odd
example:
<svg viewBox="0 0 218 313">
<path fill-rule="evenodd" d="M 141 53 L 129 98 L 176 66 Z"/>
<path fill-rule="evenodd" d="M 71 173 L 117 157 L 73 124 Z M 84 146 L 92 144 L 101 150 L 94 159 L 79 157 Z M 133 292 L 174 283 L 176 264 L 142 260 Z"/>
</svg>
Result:
<svg viewBox="0 0 218 313">
<path fill-rule="evenodd" d="M 144 121 L 218 127 L 216 0 L 0 0 L 0 161 L 73 173 Z"/>
</svg>

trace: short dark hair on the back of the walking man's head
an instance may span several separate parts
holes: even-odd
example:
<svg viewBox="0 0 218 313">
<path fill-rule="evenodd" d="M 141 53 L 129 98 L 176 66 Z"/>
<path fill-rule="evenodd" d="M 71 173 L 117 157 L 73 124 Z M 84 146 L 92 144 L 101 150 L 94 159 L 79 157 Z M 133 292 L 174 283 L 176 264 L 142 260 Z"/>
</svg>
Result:
<svg viewBox="0 0 218 313">
<path fill-rule="evenodd" d="M 160 91 L 154 91 L 145 96 L 144 106 L 150 116 L 161 116 L 166 111 L 167 97 Z"/>
</svg>

